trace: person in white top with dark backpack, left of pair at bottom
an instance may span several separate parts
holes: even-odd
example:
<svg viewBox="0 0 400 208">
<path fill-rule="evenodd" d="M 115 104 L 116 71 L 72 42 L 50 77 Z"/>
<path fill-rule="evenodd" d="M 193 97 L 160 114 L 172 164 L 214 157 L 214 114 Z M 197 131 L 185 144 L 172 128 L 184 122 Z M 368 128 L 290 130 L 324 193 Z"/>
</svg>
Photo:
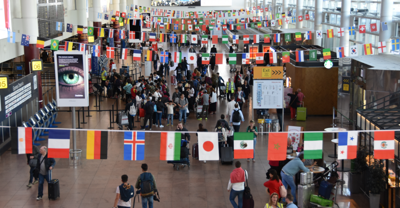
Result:
<svg viewBox="0 0 400 208">
<path fill-rule="evenodd" d="M 121 181 L 122 184 L 117 186 L 113 208 L 130 208 L 131 198 L 135 196 L 135 189 L 128 183 L 127 175 L 122 175 Z"/>
</svg>

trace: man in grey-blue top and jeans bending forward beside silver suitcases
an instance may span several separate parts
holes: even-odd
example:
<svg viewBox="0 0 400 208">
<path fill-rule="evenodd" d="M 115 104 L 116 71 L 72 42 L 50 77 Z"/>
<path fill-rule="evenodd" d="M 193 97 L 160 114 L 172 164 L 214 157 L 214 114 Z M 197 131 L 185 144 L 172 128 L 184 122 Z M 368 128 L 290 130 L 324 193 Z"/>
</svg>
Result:
<svg viewBox="0 0 400 208">
<path fill-rule="evenodd" d="M 294 158 L 292 161 L 288 162 L 281 171 L 282 183 L 284 184 L 286 190 L 288 189 L 288 185 L 291 188 L 292 195 L 294 197 L 293 203 L 297 203 L 296 199 L 296 184 L 294 184 L 293 176 L 296 175 L 300 169 L 303 170 L 304 173 L 312 171 L 312 167 L 307 168 L 304 166 L 303 162 L 305 162 L 304 155 L 299 155 L 297 158 Z M 285 197 L 282 199 L 285 201 Z"/>
</svg>

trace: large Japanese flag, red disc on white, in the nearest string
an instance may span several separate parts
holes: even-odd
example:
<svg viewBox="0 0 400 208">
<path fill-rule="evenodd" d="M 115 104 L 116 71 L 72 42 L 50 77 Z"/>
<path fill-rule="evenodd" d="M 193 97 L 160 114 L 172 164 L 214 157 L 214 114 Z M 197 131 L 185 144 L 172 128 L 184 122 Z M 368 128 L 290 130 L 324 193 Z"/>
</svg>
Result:
<svg viewBox="0 0 400 208">
<path fill-rule="evenodd" d="M 199 132 L 197 142 L 199 160 L 219 160 L 218 133 Z"/>
</svg>

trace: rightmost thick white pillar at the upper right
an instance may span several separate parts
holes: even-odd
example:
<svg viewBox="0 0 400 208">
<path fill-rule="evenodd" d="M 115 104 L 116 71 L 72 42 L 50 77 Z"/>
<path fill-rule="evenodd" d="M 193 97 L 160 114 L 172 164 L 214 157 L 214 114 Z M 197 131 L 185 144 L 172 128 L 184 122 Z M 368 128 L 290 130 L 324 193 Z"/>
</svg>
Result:
<svg viewBox="0 0 400 208">
<path fill-rule="evenodd" d="M 386 53 L 390 54 L 390 46 L 391 41 L 390 37 L 392 36 L 392 15 L 393 15 L 393 0 L 383 0 L 381 2 L 381 18 L 379 19 L 380 23 L 387 23 L 388 30 L 382 31 L 382 25 L 379 27 L 379 42 L 386 41 Z M 397 35 L 397 34 L 396 34 Z"/>
</svg>

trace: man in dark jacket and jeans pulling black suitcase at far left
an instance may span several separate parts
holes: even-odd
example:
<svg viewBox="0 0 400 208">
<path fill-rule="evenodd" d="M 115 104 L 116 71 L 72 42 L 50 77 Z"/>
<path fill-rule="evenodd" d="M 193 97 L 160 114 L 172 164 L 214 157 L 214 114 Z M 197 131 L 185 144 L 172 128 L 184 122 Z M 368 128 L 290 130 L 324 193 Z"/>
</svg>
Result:
<svg viewBox="0 0 400 208">
<path fill-rule="evenodd" d="M 54 158 L 47 157 L 47 147 L 42 146 L 39 150 L 39 156 L 37 156 L 37 164 L 36 168 L 40 168 L 39 172 L 39 190 L 37 193 L 36 200 L 41 200 L 43 198 L 43 183 L 45 183 L 45 179 L 47 182 L 50 182 L 50 172 L 54 168 L 55 160 Z"/>
</svg>

